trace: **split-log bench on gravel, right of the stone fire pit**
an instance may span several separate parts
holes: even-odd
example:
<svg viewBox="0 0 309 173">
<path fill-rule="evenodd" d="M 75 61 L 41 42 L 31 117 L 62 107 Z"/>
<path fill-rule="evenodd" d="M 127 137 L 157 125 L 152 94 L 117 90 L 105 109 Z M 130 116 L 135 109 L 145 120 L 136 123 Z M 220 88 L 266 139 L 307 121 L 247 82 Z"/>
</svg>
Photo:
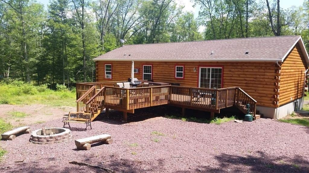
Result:
<svg viewBox="0 0 309 173">
<path fill-rule="evenodd" d="M 111 137 L 112 137 L 111 135 L 102 134 L 102 135 L 91 136 L 91 137 L 83 138 L 83 139 L 76 139 L 75 145 L 77 149 L 90 150 L 92 143 L 102 142 L 105 144 L 111 144 L 113 142 Z"/>
</svg>

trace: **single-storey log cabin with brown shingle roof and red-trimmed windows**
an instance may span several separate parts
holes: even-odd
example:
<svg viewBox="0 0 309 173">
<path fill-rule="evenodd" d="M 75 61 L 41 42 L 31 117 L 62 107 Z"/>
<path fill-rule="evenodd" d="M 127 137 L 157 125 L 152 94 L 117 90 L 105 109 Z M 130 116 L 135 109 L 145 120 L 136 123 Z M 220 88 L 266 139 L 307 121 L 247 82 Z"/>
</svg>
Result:
<svg viewBox="0 0 309 173">
<path fill-rule="evenodd" d="M 282 118 L 303 106 L 309 58 L 300 36 L 124 45 L 94 58 L 96 81 L 140 80 L 240 87 L 256 110 Z"/>
</svg>

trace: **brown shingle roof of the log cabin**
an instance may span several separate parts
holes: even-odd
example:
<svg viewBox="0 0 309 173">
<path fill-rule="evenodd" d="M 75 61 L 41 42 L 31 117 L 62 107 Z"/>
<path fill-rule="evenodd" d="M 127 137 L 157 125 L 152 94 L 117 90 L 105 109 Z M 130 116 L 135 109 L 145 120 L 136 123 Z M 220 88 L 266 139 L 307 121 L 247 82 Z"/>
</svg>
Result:
<svg viewBox="0 0 309 173">
<path fill-rule="evenodd" d="M 280 36 L 135 44 L 119 47 L 94 60 L 280 61 L 299 40 L 300 36 Z"/>
</svg>

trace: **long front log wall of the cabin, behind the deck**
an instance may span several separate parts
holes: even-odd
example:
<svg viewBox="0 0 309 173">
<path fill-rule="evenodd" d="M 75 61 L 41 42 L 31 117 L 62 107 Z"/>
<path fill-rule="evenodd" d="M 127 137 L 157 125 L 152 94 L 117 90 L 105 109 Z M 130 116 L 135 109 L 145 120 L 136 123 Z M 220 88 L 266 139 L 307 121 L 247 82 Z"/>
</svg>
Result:
<svg viewBox="0 0 309 173">
<path fill-rule="evenodd" d="M 124 81 L 131 76 L 131 61 L 96 61 L 96 81 L 105 82 L 104 63 L 112 63 L 113 81 Z M 280 80 L 279 67 L 275 62 L 134 62 L 135 68 L 140 68 L 139 74 L 134 77 L 142 79 L 144 64 L 152 64 L 153 80 L 157 82 L 175 82 L 181 86 L 198 86 L 198 68 L 222 66 L 223 86 L 241 87 L 258 102 L 257 105 L 277 107 L 279 99 L 275 96 Z M 175 78 L 175 66 L 184 65 L 184 79 Z M 193 68 L 196 68 L 196 72 Z M 274 105 L 274 103 L 276 105 Z"/>
</svg>

